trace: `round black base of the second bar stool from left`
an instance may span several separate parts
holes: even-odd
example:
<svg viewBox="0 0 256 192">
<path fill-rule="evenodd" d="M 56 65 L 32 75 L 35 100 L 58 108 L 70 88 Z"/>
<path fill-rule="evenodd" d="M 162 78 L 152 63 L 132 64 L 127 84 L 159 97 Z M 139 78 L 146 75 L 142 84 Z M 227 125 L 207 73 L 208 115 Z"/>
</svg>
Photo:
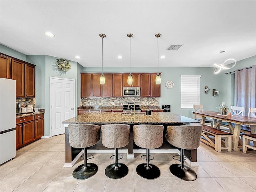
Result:
<svg viewBox="0 0 256 192">
<path fill-rule="evenodd" d="M 110 179 L 120 179 L 128 174 L 128 167 L 125 164 L 110 164 L 105 169 L 105 175 Z"/>
</svg>

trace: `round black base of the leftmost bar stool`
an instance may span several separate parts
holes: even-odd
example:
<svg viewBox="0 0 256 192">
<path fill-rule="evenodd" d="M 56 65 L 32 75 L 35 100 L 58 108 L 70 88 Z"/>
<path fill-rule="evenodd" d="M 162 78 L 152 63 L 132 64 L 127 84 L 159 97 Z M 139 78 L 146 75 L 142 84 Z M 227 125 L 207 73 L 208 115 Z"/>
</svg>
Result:
<svg viewBox="0 0 256 192">
<path fill-rule="evenodd" d="M 78 180 L 84 180 L 94 176 L 98 171 L 98 166 L 94 163 L 87 163 L 87 166 L 84 164 L 78 166 L 73 171 L 73 177 Z"/>
</svg>

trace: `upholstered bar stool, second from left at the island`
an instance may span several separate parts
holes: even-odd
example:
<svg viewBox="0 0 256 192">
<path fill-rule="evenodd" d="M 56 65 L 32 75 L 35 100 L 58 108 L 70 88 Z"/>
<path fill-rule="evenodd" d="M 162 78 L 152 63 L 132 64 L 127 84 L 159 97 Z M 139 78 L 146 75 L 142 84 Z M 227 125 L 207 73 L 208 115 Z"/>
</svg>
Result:
<svg viewBox="0 0 256 192">
<path fill-rule="evenodd" d="M 120 179 L 128 174 L 128 167 L 123 163 L 118 163 L 122 155 L 118 155 L 118 148 L 128 145 L 130 140 L 130 125 L 125 124 L 107 124 L 101 126 L 101 140 L 104 147 L 114 148 L 115 154 L 110 158 L 115 163 L 110 164 L 105 169 L 105 174 L 111 179 Z M 112 158 L 112 157 L 115 158 Z M 118 156 L 122 156 L 118 159 Z"/>
</svg>

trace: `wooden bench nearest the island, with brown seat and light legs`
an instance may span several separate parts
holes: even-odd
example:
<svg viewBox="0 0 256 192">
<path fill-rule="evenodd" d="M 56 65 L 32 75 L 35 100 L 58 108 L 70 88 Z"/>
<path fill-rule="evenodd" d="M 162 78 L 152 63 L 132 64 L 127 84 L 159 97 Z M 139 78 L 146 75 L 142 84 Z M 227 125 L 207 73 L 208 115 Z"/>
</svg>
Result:
<svg viewBox="0 0 256 192">
<path fill-rule="evenodd" d="M 228 152 L 232 151 L 232 133 L 214 129 L 207 125 L 202 125 L 202 128 L 202 136 L 204 138 L 201 137 L 201 142 L 212 146 L 218 152 L 221 152 L 222 149 L 225 149 Z M 209 134 L 215 137 L 215 142 L 212 142 L 212 140 L 209 138 Z M 225 138 L 225 147 L 221 146 L 222 137 Z"/>
</svg>

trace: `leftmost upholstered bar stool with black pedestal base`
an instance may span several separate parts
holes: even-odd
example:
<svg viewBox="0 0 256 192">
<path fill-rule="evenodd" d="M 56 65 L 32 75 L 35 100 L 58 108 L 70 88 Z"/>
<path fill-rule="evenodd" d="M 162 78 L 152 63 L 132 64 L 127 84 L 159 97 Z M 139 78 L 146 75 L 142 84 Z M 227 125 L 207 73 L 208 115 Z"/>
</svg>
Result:
<svg viewBox="0 0 256 192">
<path fill-rule="evenodd" d="M 73 171 L 73 177 L 79 180 L 87 179 L 98 171 L 94 163 L 87 163 L 87 148 L 95 145 L 100 140 L 100 126 L 92 124 L 70 124 L 68 125 L 68 136 L 70 146 L 84 148 L 84 164 Z M 92 158 L 94 157 L 91 155 Z"/>
</svg>

